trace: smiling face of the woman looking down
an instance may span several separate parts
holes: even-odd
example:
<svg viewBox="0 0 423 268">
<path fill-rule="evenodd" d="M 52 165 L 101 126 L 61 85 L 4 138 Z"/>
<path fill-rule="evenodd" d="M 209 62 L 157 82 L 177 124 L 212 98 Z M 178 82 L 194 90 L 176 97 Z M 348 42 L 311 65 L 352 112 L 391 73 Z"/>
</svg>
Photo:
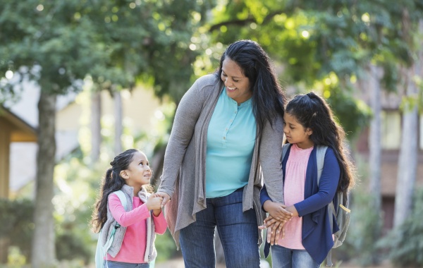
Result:
<svg viewBox="0 0 423 268">
<path fill-rule="evenodd" d="M 250 80 L 243 74 L 240 66 L 228 57 L 223 60 L 221 80 L 225 83 L 226 94 L 238 104 L 252 96 Z"/>
</svg>

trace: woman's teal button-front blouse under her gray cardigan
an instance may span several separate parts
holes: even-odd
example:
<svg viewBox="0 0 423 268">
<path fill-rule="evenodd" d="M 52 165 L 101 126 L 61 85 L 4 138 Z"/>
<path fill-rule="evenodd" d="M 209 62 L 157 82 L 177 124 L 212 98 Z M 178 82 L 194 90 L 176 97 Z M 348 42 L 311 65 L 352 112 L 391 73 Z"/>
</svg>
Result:
<svg viewBox="0 0 423 268">
<path fill-rule="evenodd" d="M 252 99 L 238 105 L 223 88 L 207 132 L 206 197 L 226 196 L 247 185 L 256 135 Z"/>
</svg>

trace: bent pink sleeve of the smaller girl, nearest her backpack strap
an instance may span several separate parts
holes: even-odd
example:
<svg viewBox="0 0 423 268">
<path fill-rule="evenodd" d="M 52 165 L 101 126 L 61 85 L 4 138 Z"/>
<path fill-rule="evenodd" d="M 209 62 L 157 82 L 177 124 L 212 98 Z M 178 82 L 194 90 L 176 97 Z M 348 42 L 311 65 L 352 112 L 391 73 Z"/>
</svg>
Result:
<svg viewBox="0 0 423 268">
<path fill-rule="evenodd" d="M 117 195 L 109 195 L 108 200 L 111 215 L 118 221 L 118 224 L 121 224 L 123 227 L 128 227 L 150 217 L 149 210 L 145 204 L 142 204 L 140 207 L 135 207 L 135 209 L 132 209 L 130 212 L 126 212 Z"/>
</svg>

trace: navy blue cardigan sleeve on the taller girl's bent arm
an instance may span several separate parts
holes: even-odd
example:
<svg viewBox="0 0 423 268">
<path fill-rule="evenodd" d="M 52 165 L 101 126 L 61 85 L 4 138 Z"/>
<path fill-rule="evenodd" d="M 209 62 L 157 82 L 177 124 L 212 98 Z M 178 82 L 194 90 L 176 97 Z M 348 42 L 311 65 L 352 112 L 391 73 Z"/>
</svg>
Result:
<svg viewBox="0 0 423 268">
<path fill-rule="evenodd" d="M 335 196 L 340 176 L 341 169 L 339 168 L 338 160 L 333 150 L 328 148 L 324 157 L 323 170 L 321 171 L 319 191 L 294 205 L 298 216 L 302 217 L 328 205 Z"/>
</svg>

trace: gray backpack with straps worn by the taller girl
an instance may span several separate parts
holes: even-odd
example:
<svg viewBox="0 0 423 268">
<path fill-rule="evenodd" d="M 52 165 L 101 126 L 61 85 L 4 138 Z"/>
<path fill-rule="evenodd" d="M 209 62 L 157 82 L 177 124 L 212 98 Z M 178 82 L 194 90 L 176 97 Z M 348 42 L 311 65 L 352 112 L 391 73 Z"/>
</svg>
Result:
<svg viewBox="0 0 423 268">
<path fill-rule="evenodd" d="M 282 147 L 282 161 L 283 157 L 285 157 L 286 152 L 288 151 L 290 144 L 287 143 Z M 316 159 L 317 159 L 317 186 L 319 186 L 321 171 L 323 171 L 324 166 L 324 157 L 326 155 L 326 150 L 328 149 L 327 146 L 318 146 L 316 152 Z M 338 248 L 342 245 L 343 241 L 345 240 L 345 236 L 347 235 L 348 226 L 350 226 L 350 200 L 349 195 L 346 193 L 345 195 L 342 192 L 336 192 L 336 200 L 337 204 L 333 204 L 332 202 L 328 205 L 329 215 L 333 215 L 336 219 L 336 224 L 338 224 L 339 231 L 333 233 L 333 248 Z M 338 209 L 335 209 L 337 207 Z M 331 230 L 333 230 L 333 217 L 329 217 L 329 222 L 331 223 Z M 326 265 L 332 266 L 332 250 L 329 251 L 326 257 Z"/>
</svg>

